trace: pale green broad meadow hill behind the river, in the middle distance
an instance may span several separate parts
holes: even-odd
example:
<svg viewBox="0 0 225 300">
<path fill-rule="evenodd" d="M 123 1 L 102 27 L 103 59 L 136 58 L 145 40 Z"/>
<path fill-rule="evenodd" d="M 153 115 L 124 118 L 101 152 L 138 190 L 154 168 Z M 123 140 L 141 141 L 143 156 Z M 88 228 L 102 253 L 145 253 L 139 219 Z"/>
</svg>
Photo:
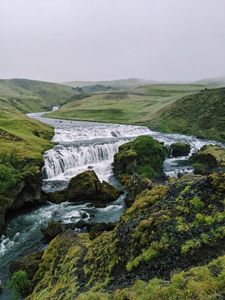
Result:
<svg viewBox="0 0 225 300">
<path fill-rule="evenodd" d="M 203 86 L 186 84 L 152 84 L 129 92 L 92 94 L 70 99 L 49 117 L 113 123 L 142 124 L 153 118 L 163 107 L 184 95 L 199 92 Z"/>
</svg>

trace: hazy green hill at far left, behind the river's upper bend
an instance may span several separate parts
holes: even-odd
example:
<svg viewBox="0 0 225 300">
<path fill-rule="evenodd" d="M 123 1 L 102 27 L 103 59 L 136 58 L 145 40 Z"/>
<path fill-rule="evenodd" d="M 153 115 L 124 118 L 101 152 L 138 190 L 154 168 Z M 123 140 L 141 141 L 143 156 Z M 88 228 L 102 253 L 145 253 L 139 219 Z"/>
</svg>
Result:
<svg viewBox="0 0 225 300">
<path fill-rule="evenodd" d="M 0 80 L 0 107 L 11 107 L 22 112 L 49 110 L 74 94 L 78 92 L 73 88 L 56 83 L 27 79 Z"/>
</svg>

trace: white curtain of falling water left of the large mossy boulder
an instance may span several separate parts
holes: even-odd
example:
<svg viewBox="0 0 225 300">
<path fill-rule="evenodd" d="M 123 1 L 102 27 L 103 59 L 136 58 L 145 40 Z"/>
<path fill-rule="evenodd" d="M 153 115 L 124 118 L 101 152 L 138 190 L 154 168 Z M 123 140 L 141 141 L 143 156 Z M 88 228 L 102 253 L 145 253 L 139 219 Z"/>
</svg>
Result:
<svg viewBox="0 0 225 300">
<path fill-rule="evenodd" d="M 114 154 L 128 139 L 91 145 L 57 145 L 45 152 L 44 174 L 48 180 L 69 179 L 78 173 L 94 169 L 100 179 L 110 173 Z"/>
</svg>

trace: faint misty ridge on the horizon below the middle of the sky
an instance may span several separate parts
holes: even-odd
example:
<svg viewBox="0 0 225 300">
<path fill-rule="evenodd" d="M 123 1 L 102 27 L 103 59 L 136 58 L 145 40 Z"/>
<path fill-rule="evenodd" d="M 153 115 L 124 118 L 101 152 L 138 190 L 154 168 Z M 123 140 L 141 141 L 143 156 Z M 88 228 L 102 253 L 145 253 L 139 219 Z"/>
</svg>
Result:
<svg viewBox="0 0 225 300">
<path fill-rule="evenodd" d="M 110 87 L 117 87 L 117 88 L 137 87 L 142 84 L 151 84 L 151 83 L 155 83 L 155 82 L 152 80 L 138 79 L 138 78 L 117 79 L 117 80 L 110 80 L 110 81 L 63 82 L 63 84 L 72 86 L 72 87 L 86 87 L 86 86 L 101 85 L 101 86 L 110 86 Z"/>
</svg>

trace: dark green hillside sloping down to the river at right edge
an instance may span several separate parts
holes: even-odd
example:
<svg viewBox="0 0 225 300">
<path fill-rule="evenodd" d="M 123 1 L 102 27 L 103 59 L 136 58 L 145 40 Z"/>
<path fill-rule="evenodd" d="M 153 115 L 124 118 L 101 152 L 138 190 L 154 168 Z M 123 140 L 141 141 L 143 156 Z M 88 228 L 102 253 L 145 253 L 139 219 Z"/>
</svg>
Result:
<svg viewBox="0 0 225 300">
<path fill-rule="evenodd" d="M 183 97 L 159 111 L 147 125 L 225 141 L 225 88 Z"/>
</svg>

